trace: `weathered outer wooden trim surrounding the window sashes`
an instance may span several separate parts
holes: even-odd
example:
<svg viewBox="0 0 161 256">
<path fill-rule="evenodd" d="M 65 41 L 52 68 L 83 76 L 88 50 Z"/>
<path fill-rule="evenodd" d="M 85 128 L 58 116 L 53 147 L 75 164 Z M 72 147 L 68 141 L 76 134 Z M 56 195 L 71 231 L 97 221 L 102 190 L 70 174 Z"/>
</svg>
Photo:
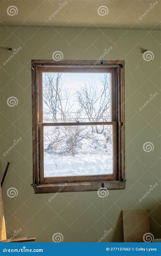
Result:
<svg viewBox="0 0 161 256">
<path fill-rule="evenodd" d="M 119 144 L 119 148 L 121 145 L 121 152 L 120 150 L 118 150 L 117 154 L 121 155 L 121 159 L 119 162 L 121 162 L 121 169 L 119 171 L 119 175 L 120 175 L 120 181 L 109 181 L 111 179 L 116 179 L 117 177 L 114 175 L 108 175 L 108 177 L 104 177 L 103 179 L 98 178 L 98 180 L 95 182 L 97 182 L 96 184 L 92 181 L 92 184 L 89 184 L 90 182 L 88 180 L 86 180 L 88 184 L 86 184 L 86 186 L 88 187 L 88 189 L 85 188 L 85 179 L 82 180 L 82 182 L 79 184 L 79 182 L 76 182 L 76 184 L 74 184 L 74 179 L 72 181 L 72 183 L 68 183 L 68 186 L 66 186 L 68 188 L 69 191 L 92 191 L 92 190 L 97 190 L 97 187 L 100 187 L 100 184 L 104 184 L 104 187 L 106 187 L 106 184 L 108 184 L 108 187 L 110 187 L 109 189 L 124 189 L 125 183 L 124 185 L 119 185 L 122 183 L 117 183 L 117 182 L 122 182 L 122 180 L 125 180 L 125 89 L 124 89 L 124 61 L 103 61 L 102 63 L 98 63 L 98 64 L 94 64 L 95 61 L 91 60 L 91 61 L 84 61 L 84 60 L 63 60 L 63 61 L 59 61 L 59 63 L 57 61 L 54 60 L 32 60 L 32 115 L 33 115 L 33 186 L 35 187 L 35 193 L 52 193 L 52 192 L 38 192 L 38 190 L 42 190 L 42 191 L 52 191 L 51 189 L 49 189 L 49 187 L 53 188 L 56 191 L 55 188 L 58 188 L 58 184 L 59 183 L 55 183 L 55 184 L 42 184 L 40 185 L 40 181 L 39 181 L 39 131 L 38 131 L 38 100 L 39 100 L 39 89 L 38 89 L 38 78 L 39 75 L 41 75 L 41 73 L 43 72 L 43 70 L 46 70 L 47 67 L 50 67 L 50 69 L 55 69 L 55 67 L 57 67 L 58 69 L 62 69 L 64 67 L 71 67 L 71 70 L 74 69 L 74 67 L 78 68 L 80 67 L 80 72 L 83 71 L 83 68 L 88 68 L 90 67 L 90 69 L 100 69 L 100 71 L 102 72 L 105 69 L 109 69 L 109 72 L 114 72 L 114 70 L 117 70 L 117 74 L 120 74 L 119 79 L 118 79 L 118 86 L 119 86 L 119 102 L 118 102 L 118 108 L 119 108 L 119 113 L 117 113 L 118 115 L 118 119 L 117 120 L 113 120 L 112 121 L 119 121 L 119 131 L 120 131 L 120 127 L 121 127 L 121 137 L 118 140 L 118 135 L 115 136 L 118 144 Z M 39 70 L 39 73 L 38 73 Z M 49 69 L 48 69 L 49 72 Z M 40 93 L 40 92 L 39 92 Z M 114 116 L 113 116 L 114 117 Z M 53 123 L 43 123 L 43 120 L 39 120 L 39 123 L 43 125 L 53 125 Z M 99 122 L 101 123 L 101 122 Z M 104 122 L 102 122 L 103 124 Z M 114 125 L 115 122 L 107 122 L 107 124 L 111 124 Z M 56 124 L 59 125 L 59 124 Z M 60 124 L 62 125 L 62 124 Z M 69 125 L 68 123 L 65 125 Z M 70 124 L 71 125 L 71 124 Z M 81 123 L 79 124 L 72 124 L 72 125 L 81 125 Z M 92 125 L 92 124 L 90 124 Z M 120 126 L 121 125 L 121 126 Z M 115 125 L 113 126 L 113 130 L 114 133 L 116 131 L 115 129 Z M 41 130 L 41 129 L 40 129 Z M 119 134 L 120 136 L 120 134 Z M 115 143 L 115 142 L 114 142 Z M 42 144 L 41 144 L 42 145 Z M 120 156 L 119 156 L 120 157 Z M 42 156 L 41 156 L 42 159 Z M 84 176 L 85 177 L 85 176 Z M 60 178 L 60 177 L 59 177 Z M 51 179 L 52 182 L 53 179 L 55 179 L 55 177 L 50 177 L 50 183 L 51 183 Z M 46 180 L 46 183 L 49 183 L 48 178 L 45 178 L 44 180 Z M 41 178 L 41 183 L 44 182 L 44 180 L 42 180 Z M 108 180 L 108 181 L 107 181 Z M 78 180 L 77 180 L 78 181 Z M 57 182 L 61 182 L 60 179 L 59 181 L 57 180 Z M 64 182 L 64 181 L 63 181 Z M 109 183 L 109 182 L 116 182 L 114 183 Z M 64 184 L 64 183 L 61 183 Z M 94 187 L 93 187 L 94 184 Z M 81 187 L 83 185 L 83 187 Z M 69 187 L 70 186 L 70 187 Z M 76 187 L 75 187 L 76 186 Z M 102 185 L 101 185 L 102 186 Z M 46 188 L 48 187 L 48 189 Z M 69 189 L 70 188 L 70 189 Z M 65 192 L 62 191 L 62 192 Z"/>
</svg>

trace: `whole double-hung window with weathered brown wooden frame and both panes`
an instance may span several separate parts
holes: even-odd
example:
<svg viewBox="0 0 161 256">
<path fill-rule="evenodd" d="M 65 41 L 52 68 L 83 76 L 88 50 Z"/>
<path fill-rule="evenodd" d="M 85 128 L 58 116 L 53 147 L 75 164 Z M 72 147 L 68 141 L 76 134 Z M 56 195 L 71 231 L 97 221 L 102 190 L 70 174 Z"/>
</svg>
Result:
<svg viewBox="0 0 161 256">
<path fill-rule="evenodd" d="M 32 61 L 35 193 L 124 188 L 124 62 Z"/>
</svg>

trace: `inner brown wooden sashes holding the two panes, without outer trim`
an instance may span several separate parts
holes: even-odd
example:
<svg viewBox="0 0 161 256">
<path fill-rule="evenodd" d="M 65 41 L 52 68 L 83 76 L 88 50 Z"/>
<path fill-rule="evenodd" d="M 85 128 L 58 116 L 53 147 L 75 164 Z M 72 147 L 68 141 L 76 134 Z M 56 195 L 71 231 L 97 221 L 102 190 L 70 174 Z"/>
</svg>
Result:
<svg viewBox="0 0 161 256">
<path fill-rule="evenodd" d="M 87 181 L 87 182 L 91 182 L 91 181 L 106 181 L 106 180 L 115 180 L 118 176 L 117 174 L 117 124 L 113 124 L 113 134 L 115 133 L 115 136 L 113 135 L 113 174 L 110 175 L 89 175 L 89 176 L 68 176 L 68 179 L 66 177 L 51 177 L 51 178 L 46 178 L 44 177 L 44 166 L 43 166 L 43 155 L 44 155 L 44 149 L 43 149 L 43 126 L 47 125 L 47 126 L 54 126 L 55 125 L 80 125 L 80 123 L 78 122 L 71 122 L 71 123 L 43 123 L 43 87 L 42 87 L 42 73 L 47 73 L 47 72 L 56 72 L 56 73 L 110 73 L 111 74 L 111 121 L 116 122 L 117 121 L 117 84 L 116 84 L 116 69 L 114 67 L 112 68 L 107 68 L 107 67 L 91 67 L 90 66 L 67 66 L 67 67 L 59 67 L 59 66 L 55 66 L 55 67 L 39 67 L 38 68 L 38 97 L 39 97 L 39 135 L 40 135 L 40 147 L 39 147 L 39 177 L 40 177 L 40 184 L 44 184 L 44 183 L 64 183 L 64 182 L 68 182 L 70 180 L 70 182 L 78 182 L 78 181 Z M 88 124 L 87 124 L 88 123 Z M 94 123 L 96 122 L 84 122 L 84 125 L 94 125 Z M 97 122 L 98 124 L 102 124 L 103 122 Z M 112 122 L 104 122 L 107 124 L 112 124 Z M 43 124 L 41 126 L 41 124 Z M 81 125 L 83 125 L 83 123 L 81 122 Z M 96 124 L 95 124 L 96 125 Z M 41 128 L 42 127 L 42 128 Z"/>
</svg>

